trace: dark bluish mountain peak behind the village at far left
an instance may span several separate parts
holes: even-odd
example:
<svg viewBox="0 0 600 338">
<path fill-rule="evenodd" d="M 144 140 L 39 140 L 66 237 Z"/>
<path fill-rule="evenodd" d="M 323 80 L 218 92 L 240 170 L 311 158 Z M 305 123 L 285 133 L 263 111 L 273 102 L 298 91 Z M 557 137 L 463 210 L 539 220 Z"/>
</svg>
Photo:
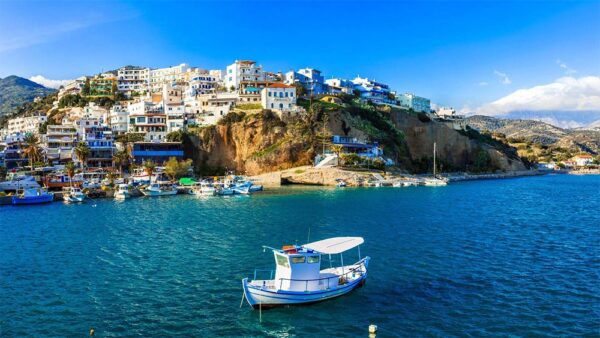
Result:
<svg viewBox="0 0 600 338">
<path fill-rule="evenodd" d="M 15 75 L 0 79 L 0 116 L 38 96 L 43 97 L 53 92 L 54 89 Z"/>
</svg>

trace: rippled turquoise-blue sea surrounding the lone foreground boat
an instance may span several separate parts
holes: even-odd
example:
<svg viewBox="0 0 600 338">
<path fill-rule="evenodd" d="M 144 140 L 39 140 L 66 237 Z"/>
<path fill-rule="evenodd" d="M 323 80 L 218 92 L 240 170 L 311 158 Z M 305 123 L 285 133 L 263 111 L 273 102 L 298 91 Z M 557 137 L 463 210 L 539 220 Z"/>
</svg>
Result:
<svg viewBox="0 0 600 338">
<path fill-rule="evenodd" d="M 4 206 L 0 337 L 598 337 L 599 212 L 571 175 Z M 259 322 L 241 279 L 309 228 L 365 238 L 365 287 Z"/>
</svg>

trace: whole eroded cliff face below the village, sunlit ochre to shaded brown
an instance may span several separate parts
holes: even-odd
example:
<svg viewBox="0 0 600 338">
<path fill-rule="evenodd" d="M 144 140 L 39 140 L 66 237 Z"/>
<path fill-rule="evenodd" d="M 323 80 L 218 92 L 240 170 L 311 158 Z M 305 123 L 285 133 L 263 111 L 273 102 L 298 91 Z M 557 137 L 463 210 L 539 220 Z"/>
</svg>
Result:
<svg viewBox="0 0 600 338">
<path fill-rule="evenodd" d="M 518 157 L 505 150 L 469 138 L 444 123 L 424 122 L 405 112 L 392 111 L 382 115 L 401 133 L 381 131 L 373 121 L 348 111 L 327 114 L 327 123 L 300 123 L 303 127 L 261 113 L 224 125 L 195 129 L 188 136 L 186 155 L 194 160 L 196 170 L 204 174 L 235 170 L 258 175 L 311 165 L 322 149 L 322 143 L 315 140 L 315 135 L 324 132 L 378 140 L 380 144 L 384 140 L 386 157 L 394 159 L 409 172 L 431 171 L 433 142 L 437 143 L 438 164 L 441 163 L 445 171 L 473 170 L 482 152 L 489 155 L 490 168 L 503 171 L 526 169 Z"/>
</svg>

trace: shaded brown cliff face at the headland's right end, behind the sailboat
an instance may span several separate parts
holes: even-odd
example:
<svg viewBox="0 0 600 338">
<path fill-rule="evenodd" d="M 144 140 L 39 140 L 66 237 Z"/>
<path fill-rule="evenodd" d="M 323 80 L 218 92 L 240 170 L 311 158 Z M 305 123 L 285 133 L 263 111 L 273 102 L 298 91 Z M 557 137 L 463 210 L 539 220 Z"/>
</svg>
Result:
<svg viewBox="0 0 600 338">
<path fill-rule="evenodd" d="M 446 166 L 442 169 L 472 171 L 478 157 L 482 157 L 481 153 L 485 152 L 489 156 L 490 168 L 502 171 L 526 170 L 518 156 L 471 139 L 465 133 L 453 129 L 450 124 L 403 112 L 392 112 L 391 118 L 405 135 L 408 156 L 417 171 L 425 169 L 420 161 L 429 161 L 433 156 L 434 142 L 437 144 L 437 159 Z"/>
</svg>

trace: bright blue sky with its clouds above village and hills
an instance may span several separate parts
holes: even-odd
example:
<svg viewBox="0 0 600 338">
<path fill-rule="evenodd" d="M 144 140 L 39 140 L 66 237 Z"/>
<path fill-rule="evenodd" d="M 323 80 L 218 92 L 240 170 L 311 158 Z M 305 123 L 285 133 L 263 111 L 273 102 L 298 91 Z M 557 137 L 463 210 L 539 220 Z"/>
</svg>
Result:
<svg viewBox="0 0 600 338">
<path fill-rule="evenodd" d="M 0 0 L 0 77 L 58 86 L 236 59 L 373 78 L 465 113 L 600 119 L 600 1 Z"/>
</svg>

